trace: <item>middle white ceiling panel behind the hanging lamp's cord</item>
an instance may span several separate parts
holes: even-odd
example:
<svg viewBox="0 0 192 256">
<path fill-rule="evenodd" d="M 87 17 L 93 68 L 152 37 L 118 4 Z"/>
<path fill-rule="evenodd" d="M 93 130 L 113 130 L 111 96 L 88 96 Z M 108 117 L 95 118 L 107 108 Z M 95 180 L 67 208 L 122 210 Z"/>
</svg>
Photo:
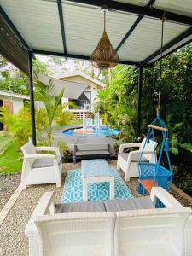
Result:
<svg viewBox="0 0 192 256">
<path fill-rule="evenodd" d="M 63 17 L 69 54 L 91 55 L 102 37 L 103 14 L 100 9 L 86 9 L 63 4 Z M 113 48 L 137 20 L 137 15 L 108 12 L 107 32 Z"/>
</svg>

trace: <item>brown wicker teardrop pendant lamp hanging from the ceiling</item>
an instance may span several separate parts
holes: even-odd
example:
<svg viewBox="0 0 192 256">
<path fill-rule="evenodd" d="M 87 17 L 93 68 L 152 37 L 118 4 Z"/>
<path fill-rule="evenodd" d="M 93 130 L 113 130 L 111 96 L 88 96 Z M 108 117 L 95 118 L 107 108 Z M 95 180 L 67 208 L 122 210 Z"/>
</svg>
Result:
<svg viewBox="0 0 192 256">
<path fill-rule="evenodd" d="M 119 55 L 115 49 L 113 49 L 106 32 L 107 9 L 102 9 L 102 11 L 104 13 L 104 30 L 102 32 L 102 38 L 90 56 L 90 61 L 92 62 L 92 65 L 97 68 L 115 67 L 119 62 Z"/>
</svg>

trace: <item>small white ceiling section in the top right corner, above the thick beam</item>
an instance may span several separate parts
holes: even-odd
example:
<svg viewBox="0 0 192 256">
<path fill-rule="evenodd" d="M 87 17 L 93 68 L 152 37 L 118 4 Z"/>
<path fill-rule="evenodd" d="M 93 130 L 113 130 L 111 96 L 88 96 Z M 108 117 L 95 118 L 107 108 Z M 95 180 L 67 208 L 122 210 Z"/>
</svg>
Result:
<svg viewBox="0 0 192 256">
<path fill-rule="evenodd" d="M 192 0 L 156 0 L 153 6 L 172 13 L 192 16 Z"/>
</svg>

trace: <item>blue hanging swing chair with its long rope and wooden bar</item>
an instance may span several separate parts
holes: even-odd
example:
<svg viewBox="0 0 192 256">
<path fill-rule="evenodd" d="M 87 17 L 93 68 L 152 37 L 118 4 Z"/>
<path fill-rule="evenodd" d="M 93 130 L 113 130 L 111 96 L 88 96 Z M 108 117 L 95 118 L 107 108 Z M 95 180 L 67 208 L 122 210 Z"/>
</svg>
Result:
<svg viewBox="0 0 192 256">
<path fill-rule="evenodd" d="M 172 186 L 172 165 L 169 157 L 169 144 L 168 144 L 168 129 L 162 119 L 160 119 L 160 89 L 162 84 L 162 57 L 163 57 L 163 36 L 164 36 L 164 22 L 165 22 L 166 12 L 162 16 L 162 25 L 161 25 L 161 42 L 160 42 L 160 83 L 159 83 L 159 95 L 158 95 L 158 106 L 157 106 L 157 116 L 154 121 L 148 125 L 148 134 L 143 144 L 142 152 L 138 161 L 138 171 L 139 171 L 139 186 L 138 191 L 143 194 L 143 189 L 148 190 L 147 183 L 149 180 L 154 179 L 154 186 L 156 182 L 158 186 L 162 186 L 166 190 L 170 190 Z M 159 124 L 159 125 L 157 125 Z M 159 157 L 156 154 L 155 147 L 155 130 L 159 130 L 162 133 L 162 143 L 160 145 Z M 154 146 L 154 160 L 145 163 L 142 161 L 142 156 L 145 156 L 145 147 L 147 143 L 153 143 Z M 150 145 L 151 147 L 151 145 Z M 166 158 L 168 162 L 168 168 L 162 166 L 162 157 L 163 153 L 166 152 Z M 146 183 L 142 181 L 146 180 Z M 143 189 L 141 189 L 143 188 Z"/>
</svg>

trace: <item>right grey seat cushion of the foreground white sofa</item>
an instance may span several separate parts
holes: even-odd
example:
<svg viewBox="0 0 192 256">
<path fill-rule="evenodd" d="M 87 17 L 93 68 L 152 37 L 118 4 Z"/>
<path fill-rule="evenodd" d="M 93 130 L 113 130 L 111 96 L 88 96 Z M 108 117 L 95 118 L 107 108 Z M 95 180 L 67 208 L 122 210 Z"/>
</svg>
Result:
<svg viewBox="0 0 192 256">
<path fill-rule="evenodd" d="M 154 204 L 149 196 L 124 200 L 108 200 L 104 201 L 104 205 L 107 212 L 154 208 Z"/>
</svg>

